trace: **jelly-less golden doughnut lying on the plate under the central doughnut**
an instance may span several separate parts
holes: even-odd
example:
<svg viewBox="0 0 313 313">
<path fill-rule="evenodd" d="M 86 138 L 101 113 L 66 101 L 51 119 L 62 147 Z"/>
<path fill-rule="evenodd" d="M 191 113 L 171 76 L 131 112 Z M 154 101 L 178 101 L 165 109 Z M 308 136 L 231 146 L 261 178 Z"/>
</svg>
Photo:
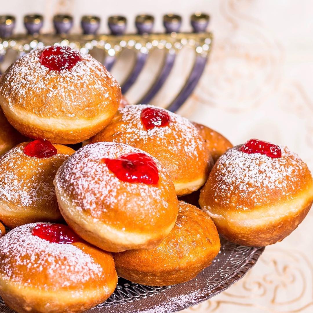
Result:
<svg viewBox="0 0 313 313">
<path fill-rule="evenodd" d="M 143 285 L 174 285 L 191 280 L 211 264 L 220 249 L 212 219 L 183 201 L 178 207 L 174 228 L 156 248 L 113 255 L 119 276 Z"/>
</svg>

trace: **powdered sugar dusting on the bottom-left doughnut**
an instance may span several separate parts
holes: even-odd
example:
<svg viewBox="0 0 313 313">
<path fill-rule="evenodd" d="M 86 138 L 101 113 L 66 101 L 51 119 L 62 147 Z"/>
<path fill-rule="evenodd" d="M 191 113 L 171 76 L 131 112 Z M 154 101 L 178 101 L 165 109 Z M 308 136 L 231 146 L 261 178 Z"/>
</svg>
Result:
<svg viewBox="0 0 313 313">
<path fill-rule="evenodd" d="M 62 287 L 101 277 L 102 267 L 89 254 L 73 244 L 50 243 L 33 236 L 31 231 L 36 225 L 30 223 L 16 227 L 0 239 L 0 272 L 3 280 L 26 286 L 34 286 L 38 281 L 35 287 L 48 289 L 40 280 L 25 281 L 25 271 L 33 271 L 37 275 L 44 271 L 52 281 L 55 275 L 62 277 Z"/>
</svg>

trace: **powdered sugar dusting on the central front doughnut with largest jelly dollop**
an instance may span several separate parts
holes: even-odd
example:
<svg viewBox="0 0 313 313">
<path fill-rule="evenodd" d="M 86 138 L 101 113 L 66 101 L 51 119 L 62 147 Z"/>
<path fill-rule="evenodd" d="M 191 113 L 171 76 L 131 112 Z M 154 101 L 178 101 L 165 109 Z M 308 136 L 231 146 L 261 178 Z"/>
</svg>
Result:
<svg viewBox="0 0 313 313">
<path fill-rule="evenodd" d="M 136 210 L 136 207 L 149 210 L 151 199 L 158 199 L 164 210 L 167 210 L 168 203 L 163 194 L 169 188 L 169 184 L 166 183 L 169 178 L 155 158 L 152 157 L 159 171 L 159 181 L 162 182 L 156 186 L 123 182 L 110 172 L 105 162 L 101 161 L 102 158 L 114 159 L 130 152 L 143 151 L 113 142 L 98 142 L 84 146 L 60 167 L 55 179 L 56 188 L 66 195 L 72 195 L 72 202 L 68 203 L 69 205 L 77 210 L 89 210 L 94 218 L 99 218 L 103 213 L 103 210 L 99 209 L 103 208 L 103 205 L 110 208 L 115 204 L 124 203 L 125 210 L 129 209 L 130 212 Z M 132 193 L 138 195 L 135 207 L 133 202 L 127 201 Z M 67 201 L 66 197 L 62 200 Z"/>
</svg>

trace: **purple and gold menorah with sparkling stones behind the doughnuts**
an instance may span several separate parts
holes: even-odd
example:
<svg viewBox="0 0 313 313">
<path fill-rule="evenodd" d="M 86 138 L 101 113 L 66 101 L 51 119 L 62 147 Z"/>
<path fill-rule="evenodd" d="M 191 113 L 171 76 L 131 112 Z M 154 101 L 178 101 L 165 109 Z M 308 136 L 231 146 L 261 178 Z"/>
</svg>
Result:
<svg viewBox="0 0 313 313">
<path fill-rule="evenodd" d="M 122 93 L 125 94 L 136 82 L 142 72 L 147 58 L 154 49 L 163 49 L 162 65 L 148 86 L 145 94 L 138 103 L 149 103 L 169 77 L 177 55 L 185 47 L 194 51 L 194 61 L 190 73 L 180 92 L 168 105 L 167 109 L 176 111 L 191 95 L 196 87 L 208 60 L 213 35 L 207 31 L 209 16 L 204 13 L 195 13 L 190 18 L 192 32 L 180 32 L 182 18 L 176 14 L 167 14 L 163 17 L 164 33 L 153 33 L 154 17 L 138 15 L 135 19 L 137 33 L 126 33 L 127 20 L 123 16 L 111 16 L 108 19 L 110 34 L 97 34 L 100 27 L 100 18 L 83 16 L 81 18 L 82 34 L 69 33 L 73 26 L 73 17 L 70 15 L 55 15 L 53 25 L 54 34 L 41 34 L 40 30 L 44 18 L 39 14 L 26 15 L 24 26 L 26 34 L 13 34 L 15 26 L 14 16 L 0 16 L 0 62 L 4 62 L 10 49 L 16 52 L 16 57 L 28 53 L 31 49 L 44 45 L 69 45 L 80 50 L 81 53 L 92 53 L 97 48 L 103 51 L 101 62 L 111 70 L 118 58 L 122 57 L 124 49 L 135 53 L 135 62 L 121 82 Z M 98 57 L 99 59 L 99 57 Z"/>
</svg>

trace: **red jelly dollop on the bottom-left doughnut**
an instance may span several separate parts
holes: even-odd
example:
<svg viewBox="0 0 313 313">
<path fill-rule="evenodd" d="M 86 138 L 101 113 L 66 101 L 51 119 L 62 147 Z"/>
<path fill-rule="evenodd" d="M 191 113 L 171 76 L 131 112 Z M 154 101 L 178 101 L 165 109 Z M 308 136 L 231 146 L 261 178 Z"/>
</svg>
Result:
<svg viewBox="0 0 313 313">
<path fill-rule="evenodd" d="M 63 224 L 37 224 L 32 235 L 57 244 L 72 244 L 80 240 L 69 226 Z"/>
</svg>

